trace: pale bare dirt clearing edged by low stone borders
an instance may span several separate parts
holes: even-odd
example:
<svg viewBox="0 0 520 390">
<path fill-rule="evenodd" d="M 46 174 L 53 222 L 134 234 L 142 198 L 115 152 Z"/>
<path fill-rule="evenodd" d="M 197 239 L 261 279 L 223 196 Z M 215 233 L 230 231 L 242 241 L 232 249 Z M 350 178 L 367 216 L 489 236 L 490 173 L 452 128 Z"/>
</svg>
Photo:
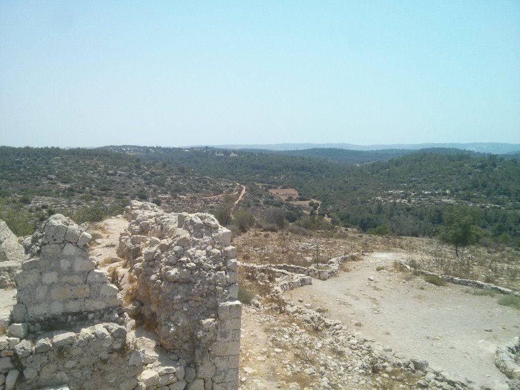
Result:
<svg viewBox="0 0 520 390">
<path fill-rule="evenodd" d="M 327 281 L 288 294 L 299 305 L 328 309 L 376 341 L 406 356 L 477 384 L 505 381 L 494 364 L 498 345 L 520 333 L 520 311 L 497 304 L 497 297 L 476 296 L 466 287 L 436 287 L 421 277 L 393 269 L 400 253 L 371 253 Z M 377 266 L 388 270 L 376 271 Z M 373 278 L 373 281 L 369 280 Z M 298 303 L 298 299 L 303 300 Z"/>
</svg>

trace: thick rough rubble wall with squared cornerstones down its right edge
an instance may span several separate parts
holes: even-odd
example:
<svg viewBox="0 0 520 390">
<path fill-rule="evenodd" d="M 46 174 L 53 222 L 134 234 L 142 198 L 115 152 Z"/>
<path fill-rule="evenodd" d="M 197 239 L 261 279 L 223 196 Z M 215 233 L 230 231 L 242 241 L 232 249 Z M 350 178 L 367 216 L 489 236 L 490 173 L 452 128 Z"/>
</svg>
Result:
<svg viewBox="0 0 520 390">
<path fill-rule="evenodd" d="M 137 277 L 134 314 L 163 348 L 196 367 L 193 389 L 238 388 L 241 304 L 231 232 L 206 213 L 166 214 L 134 201 L 118 254 Z M 140 312 L 140 313 L 139 313 Z"/>
</svg>

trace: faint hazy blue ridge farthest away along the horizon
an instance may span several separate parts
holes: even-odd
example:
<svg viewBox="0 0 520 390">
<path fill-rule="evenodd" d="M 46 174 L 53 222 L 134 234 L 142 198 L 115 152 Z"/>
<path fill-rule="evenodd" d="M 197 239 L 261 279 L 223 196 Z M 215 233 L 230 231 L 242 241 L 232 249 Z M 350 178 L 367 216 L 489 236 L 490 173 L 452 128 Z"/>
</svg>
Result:
<svg viewBox="0 0 520 390">
<path fill-rule="evenodd" d="M 265 144 L 265 145 L 214 145 L 223 149 L 266 149 L 266 150 L 300 150 L 300 149 L 349 149 L 349 150 L 381 150 L 426 148 L 456 148 L 472 150 L 480 153 L 505 154 L 520 150 L 520 144 L 504 144 L 499 142 L 472 142 L 470 144 L 393 144 L 393 145 L 353 145 L 353 144 Z"/>
</svg>

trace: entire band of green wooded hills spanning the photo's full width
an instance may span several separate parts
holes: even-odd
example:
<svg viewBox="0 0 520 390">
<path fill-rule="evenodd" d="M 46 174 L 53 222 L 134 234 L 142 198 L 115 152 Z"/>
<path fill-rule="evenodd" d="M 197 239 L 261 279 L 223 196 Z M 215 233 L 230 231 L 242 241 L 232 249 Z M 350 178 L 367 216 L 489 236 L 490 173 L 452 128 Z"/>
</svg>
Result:
<svg viewBox="0 0 520 390">
<path fill-rule="evenodd" d="M 336 151 L 309 152 L 320 153 Z M 435 236 L 451 207 L 465 205 L 483 229 L 484 239 L 510 245 L 520 242 L 520 164 L 514 156 L 429 149 L 355 166 L 346 161 L 212 148 L 0 148 L 4 215 L 5 210 L 17 210 L 17 215 L 43 218 L 51 211 L 73 214 L 99 202 L 120 207 L 136 198 L 173 207 L 186 194 L 232 192 L 236 183 L 248 187 L 250 198 L 242 207 L 254 208 L 257 217 L 262 210 L 277 207 L 291 222 L 307 218 L 308 207 L 276 199 L 266 191 L 294 188 L 299 201 L 321 202 L 319 208 L 310 207 L 311 217 L 328 216 L 346 227 Z M 186 204 L 192 199 L 188 197 Z"/>
</svg>

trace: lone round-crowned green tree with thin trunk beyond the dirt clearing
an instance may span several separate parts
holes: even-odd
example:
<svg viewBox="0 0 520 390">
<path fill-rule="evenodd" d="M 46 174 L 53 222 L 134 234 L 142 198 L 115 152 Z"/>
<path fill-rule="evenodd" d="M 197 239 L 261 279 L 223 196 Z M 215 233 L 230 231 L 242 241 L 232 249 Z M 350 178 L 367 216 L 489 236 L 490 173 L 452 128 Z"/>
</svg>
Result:
<svg viewBox="0 0 520 390">
<path fill-rule="evenodd" d="M 475 220 L 475 214 L 469 207 L 453 207 L 444 215 L 444 225 L 440 228 L 439 239 L 454 245 L 455 254 L 459 256 L 459 247 L 471 245 L 479 238 Z"/>
</svg>

